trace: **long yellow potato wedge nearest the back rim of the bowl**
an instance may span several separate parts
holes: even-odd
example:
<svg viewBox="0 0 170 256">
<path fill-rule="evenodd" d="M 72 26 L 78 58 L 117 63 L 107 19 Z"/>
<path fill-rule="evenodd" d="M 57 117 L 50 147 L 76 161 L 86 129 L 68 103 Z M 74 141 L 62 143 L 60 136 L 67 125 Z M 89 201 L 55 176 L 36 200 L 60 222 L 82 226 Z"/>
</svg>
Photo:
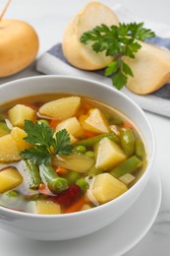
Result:
<svg viewBox="0 0 170 256">
<path fill-rule="evenodd" d="M 80 104 L 80 96 L 62 97 L 43 104 L 39 108 L 39 113 L 59 120 L 65 120 L 76 114 Z"/>
</svg>

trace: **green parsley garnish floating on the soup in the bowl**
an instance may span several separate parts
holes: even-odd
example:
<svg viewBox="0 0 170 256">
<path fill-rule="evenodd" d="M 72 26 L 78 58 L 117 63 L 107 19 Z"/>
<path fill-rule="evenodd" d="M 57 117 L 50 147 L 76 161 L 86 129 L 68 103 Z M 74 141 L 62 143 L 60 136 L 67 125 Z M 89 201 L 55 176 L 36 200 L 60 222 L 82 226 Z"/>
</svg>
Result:
<svg viewBox="0 0 170 256">
<path fill-rule="evenodd" d="M 70 137 L 66 129 L 56 134 L 45 123 L 25 120 L 25 131 L 28 136 L 24 138 L 31 148 L 20 153 L 23 159 L 32 160 L 35 164 L 49 164 L 52 156 L 70 155 L 73 146 L 69 145 Z"/>
</svg>

